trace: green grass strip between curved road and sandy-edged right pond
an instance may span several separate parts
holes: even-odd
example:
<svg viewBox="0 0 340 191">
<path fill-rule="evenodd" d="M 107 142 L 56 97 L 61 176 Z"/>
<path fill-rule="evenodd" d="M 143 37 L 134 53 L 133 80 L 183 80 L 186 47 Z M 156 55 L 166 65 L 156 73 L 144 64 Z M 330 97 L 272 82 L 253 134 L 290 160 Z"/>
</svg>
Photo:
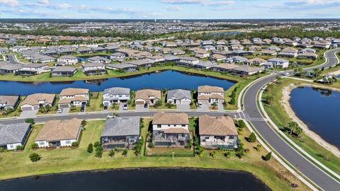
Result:
<svg viewBox="0 0 340 191">
<path fill-rule="evenodd" d="M 290 83 L 311 83 L 307 81 L 298 81 L 293 79 L 283 79 L 283 81 L 280 84 L 276 84 L 273 86 L 273 91 L 271 93 L 271 96 L 273 96 L 273 105 L 269 106 L 265 103 L 263 103 L 264 109 L 266 110 L 268 116 L 273 120 L 273 122 L 280 128 L 283 129 L 284 127 L 288 126 L 288 123 L 291 121 L 288 114 L 285 112 L 285 109 L 283 108 L 283 105 L 281 105 L 281 100 L 283 98 L 283 88 L 286 86 L 289 86 Z M 317 85 L 320 85 L 319 83 L 314 83 Z M 340 83 L 334 83 L 331 87 L 337 87 L 339 88 Z M 263 93 L 263 99 L 266 98 L 266 93 Z M 330 168 L 336 173 L 340 173 L 340 158 L 334 156 L 334 154 L 331 154 L 330 151 L 327 149 L 324 149 L 323 146 L 320 146 L 317 141 L 314 141 L 311 137 L 307 136 L 304 132 L 300 134 L 300 138 L 292 137 L 288 134 L 288 132 L 285 132 L 285 134 L 295 142 L 298 146 L 300 146 L 302 149 L 307 151 L 308 154 L 316 158 L 318 161 L 323 163 L 325 166 Z"/>
</svg>

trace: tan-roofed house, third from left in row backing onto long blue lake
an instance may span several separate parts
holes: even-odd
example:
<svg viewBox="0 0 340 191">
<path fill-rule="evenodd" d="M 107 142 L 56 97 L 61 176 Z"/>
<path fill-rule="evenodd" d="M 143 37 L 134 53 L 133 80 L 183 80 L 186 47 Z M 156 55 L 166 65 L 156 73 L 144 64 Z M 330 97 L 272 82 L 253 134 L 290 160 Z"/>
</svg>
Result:
<svg viewBox="0 0 340 191">
<path fill-rule="evenodd" d="M 80 107 L 89 102 L 89 89 L 66 88 L 59 94 L 58 108 Z"/>
</svg>

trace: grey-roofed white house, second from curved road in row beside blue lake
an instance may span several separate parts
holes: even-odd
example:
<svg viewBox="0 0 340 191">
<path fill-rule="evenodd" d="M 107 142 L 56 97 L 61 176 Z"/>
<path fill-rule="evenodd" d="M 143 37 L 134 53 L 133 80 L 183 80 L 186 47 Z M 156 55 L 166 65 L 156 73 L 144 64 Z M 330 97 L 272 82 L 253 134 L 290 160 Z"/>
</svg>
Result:
<svg viewBox="0 0 340 191">
<path fill-rule="evenodd" d="M 166 103 L 175 105 L 190 105 L 191 91 L 182 89 L 170 90 L 166 95 Z"/>
</svg>

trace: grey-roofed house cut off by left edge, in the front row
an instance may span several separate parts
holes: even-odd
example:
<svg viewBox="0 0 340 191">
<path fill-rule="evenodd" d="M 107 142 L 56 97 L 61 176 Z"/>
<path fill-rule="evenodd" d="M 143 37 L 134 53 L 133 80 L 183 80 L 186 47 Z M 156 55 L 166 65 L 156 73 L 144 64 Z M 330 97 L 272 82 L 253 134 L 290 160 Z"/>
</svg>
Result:
<svg viewBox="0 0 340 191">
<path fill-rule="evenodd" d="M 11 125 L 0 124 L 0 148 L 15 150 L 23 146 L 30 133 L 30 124 L 16 123 Z"/>
</svg>

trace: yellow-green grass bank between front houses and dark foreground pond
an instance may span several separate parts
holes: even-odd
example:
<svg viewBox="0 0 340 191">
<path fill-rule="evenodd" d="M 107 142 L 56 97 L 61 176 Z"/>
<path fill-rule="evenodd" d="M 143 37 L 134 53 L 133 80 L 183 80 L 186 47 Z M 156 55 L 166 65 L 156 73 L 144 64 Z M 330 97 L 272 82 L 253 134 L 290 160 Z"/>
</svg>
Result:
<svg viewBox="0 0 340 191">
<path fill-rule="evenodd" d="M 151 119 L 144 119 L 144 127 L 141 128 L 141 136 L 145 140 L 148 125 Z M 38 149 L 33 151 L 30 144 L 42 128 L 42 125 L 34 125 L 34 128 L 26 144 L 24 151 L 8 151 L 0 154 L 0 179 L 18 178 L 28 175 L 43 175 L 47 173 L 65 173 L 78 170 L 99 170 L 111 168 L 219 168 L 228 170 L 243 170 L 252 173 L 257 178 L 266 183 L 272 190 L 308 190 L 294 175 L 288 173 L 276 160 L 263 161 L 261 156 L 266 151 L 255 151 L 256 144 L 246 142 L 244 137 L 248 137 L 250 132 L 244 129 L 239 139 L 244 142 L 244 147 L 250 149 L 250 153 L 242 159 L 236 156 L 225 158 L 221 151 L 217 151 L 216 158 L 210 157 L 210 151 L 205 151 L 203 157 L 159 157 L 159 156 L 135 156 L 133 151 L 128 152 L 124 157 L 116 153 L 113 158 L 108 156 L 108 151 L 103 152 L 103 158 L 96 158 L 94 153 L 89 154 L 86 148 L 89 143 L 98 141 L 104 126 L 104 121 L 89 121 L 86 129 L 82 132 L 79 147 L 77 149 Z M 143 147 L 144 148 L 144 147 Z M 36 163 L 29 160 L 29 154 L 33 152 L 42 156 Z M 144 151 L 142 151 L 144 153 Z M 16 172 L 16 173 L 13 173 Z M 297 183 L 299 187 L 293 189 L 290 183 Z"/>
</svg>

